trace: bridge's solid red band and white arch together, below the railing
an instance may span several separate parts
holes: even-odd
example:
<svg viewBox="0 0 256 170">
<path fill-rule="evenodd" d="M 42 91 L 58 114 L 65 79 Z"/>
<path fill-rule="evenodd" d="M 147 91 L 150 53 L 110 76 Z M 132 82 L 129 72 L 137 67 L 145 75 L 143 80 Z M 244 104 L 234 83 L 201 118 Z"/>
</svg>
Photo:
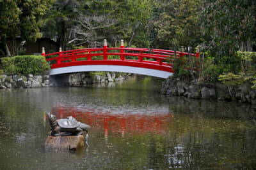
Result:
<svg viewBox="0 0 256 170">
<path fill-rule="evenodd" d="M 90 60 L 72 62 L 72 64 L 54 64 L 52 65 L 50 75 L 86 71 L 113 71 L 143 74 L 159 78 L 168 78 L 168 76 L 172 76 L 172 70 L 168 66 L 157 68 L 157 66 L 152 63 L 124 62 L 120 60 Z"/>
</svg>

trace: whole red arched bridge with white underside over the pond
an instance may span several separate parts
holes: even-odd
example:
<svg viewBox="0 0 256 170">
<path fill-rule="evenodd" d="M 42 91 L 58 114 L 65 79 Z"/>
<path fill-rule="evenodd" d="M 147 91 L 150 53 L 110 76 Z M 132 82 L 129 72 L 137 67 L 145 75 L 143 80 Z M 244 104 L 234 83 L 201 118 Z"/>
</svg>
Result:
<svg viewBox="0 0 256 170">
<path fill-rule="evenodd" d="M 84 48 L 61 51 L 42 55 L 51 62 L 50 75 L 77 73 L 84 71 L 113 71 L 144 74 L 159 78 L 168 78 L 173 74 L 172 50 L 125 48 L 121 41 L 120 48 L 109 48 L 104 39 L 103 48 Z M 177 57 L 188 55 L 177 52 Z M 198 57 L 198 53 L 191 54 Z"/>
</svg>

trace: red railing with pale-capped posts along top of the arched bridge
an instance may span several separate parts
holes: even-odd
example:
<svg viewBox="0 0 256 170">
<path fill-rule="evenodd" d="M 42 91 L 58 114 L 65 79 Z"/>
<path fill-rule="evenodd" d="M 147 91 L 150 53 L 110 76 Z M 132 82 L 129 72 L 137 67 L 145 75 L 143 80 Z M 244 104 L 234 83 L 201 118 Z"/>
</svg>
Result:
<svg viewBox="0 0 256 170">
<path fill-rule="evenodd" d="M 124 62 L 141 62 L 148 64 L 156 64 L 159 66 L 173 66 L 175 52 L 173 50 L 149 49 L 149 48 L 125 48 L 124 41 L 121 41 L 120 48 L 108 47 L 106 39 L 102 48 L 84 48 L 77 50 L 67 50 L 45 54 L 44 47 L 42 48 L 42 55 L 47 61 L 55 61 L 55 64 L 65 62 L 77 62 L 81 60 L 120 60 Z M 184 57 L 189 55 L 186 52 L 176 52 L 177 57 Z M 191 54 L 198 57 L 198 53 Z M 118 59 L 113 59 L 113 56 L 118 56 Z"/>
</svg>

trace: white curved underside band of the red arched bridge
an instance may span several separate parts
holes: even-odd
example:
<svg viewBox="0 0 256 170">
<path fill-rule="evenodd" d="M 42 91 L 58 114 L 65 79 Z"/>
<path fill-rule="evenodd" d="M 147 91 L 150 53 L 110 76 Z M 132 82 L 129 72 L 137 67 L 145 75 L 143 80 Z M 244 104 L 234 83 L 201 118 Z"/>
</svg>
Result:
<svg viewBox="0 0 256 170">
<path fill-rule="evenodd" d="M 154 76 L 159 78 L 168 78 L 168 76 L 172 76 L 172 73 L 168 71 L 160 71 L 156 69 L 147 69 L 142 67 L 113 66 L 113 65 L 86 65 L 86 66 L 60 67 L 56 69 L 51 69 L 50 75 L 87 72 L 87 71 L 111 71 L 111 72 L 122 72 L 122 73 L 134 73 L 134 74 L 143 74 L 143 75 Z"/>
</svg>

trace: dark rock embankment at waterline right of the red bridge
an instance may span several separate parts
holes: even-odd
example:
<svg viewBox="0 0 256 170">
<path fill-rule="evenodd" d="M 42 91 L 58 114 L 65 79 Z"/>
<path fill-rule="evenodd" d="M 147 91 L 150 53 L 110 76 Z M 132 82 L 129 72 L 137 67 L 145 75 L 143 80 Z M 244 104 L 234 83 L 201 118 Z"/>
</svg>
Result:
<svg viewBox="0 0 256 170">
<path fill-rule="evenodd" d="M 193 99 L 236 100 L 242 103 L 256 104 L 256 90 L 250 83 L 237 87 L 228 87 L 222 83 L 202 83 L 200 81 L 182 81 L 179 78 L 167 78 L 163 82 L 162 94 L 167 96 L 185 96 Z"/>
</svg>

